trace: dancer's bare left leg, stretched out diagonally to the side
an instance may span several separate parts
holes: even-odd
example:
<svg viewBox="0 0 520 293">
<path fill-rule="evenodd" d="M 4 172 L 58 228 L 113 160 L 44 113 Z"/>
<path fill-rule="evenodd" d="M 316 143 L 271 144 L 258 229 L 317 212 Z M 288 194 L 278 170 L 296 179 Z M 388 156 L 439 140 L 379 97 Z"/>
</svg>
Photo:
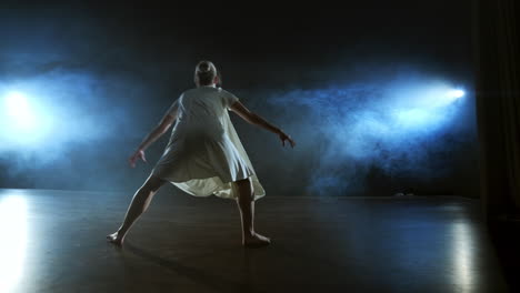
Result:
<svg viewBox="0 0 520 293">
<path fill-rule="evenodd" d="M 133 222 L 148 209 L 153 195 L 157 191 L 166 183 L 167 181 L 150 175 L 144 184 L 133 195 L 132 202 L 128 208 L 127 215 L 121 226 L 116 233 L 112 233 L 107 236 L 107 239 L 117 244 L 121 245 L 124 241 L 124 235 L 128 230 L 132 226 Z"/>
</svg>

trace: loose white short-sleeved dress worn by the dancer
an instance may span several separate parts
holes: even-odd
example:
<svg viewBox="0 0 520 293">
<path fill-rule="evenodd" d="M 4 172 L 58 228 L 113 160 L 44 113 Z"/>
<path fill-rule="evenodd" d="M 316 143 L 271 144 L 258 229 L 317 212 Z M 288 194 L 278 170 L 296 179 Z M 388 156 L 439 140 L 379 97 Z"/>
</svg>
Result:
<svg viewBox="0 0 520 293">
<path fill-rule="evenodd" d="M 214 87 L 184 91 L 168 110 L 177 121 L 152 173 L 196 196 L 237 199 L 234 181 L 251 178 L 254 200 L 266 195 L 240 142 L 229 107 L 232 93 Z"/>
</svg>

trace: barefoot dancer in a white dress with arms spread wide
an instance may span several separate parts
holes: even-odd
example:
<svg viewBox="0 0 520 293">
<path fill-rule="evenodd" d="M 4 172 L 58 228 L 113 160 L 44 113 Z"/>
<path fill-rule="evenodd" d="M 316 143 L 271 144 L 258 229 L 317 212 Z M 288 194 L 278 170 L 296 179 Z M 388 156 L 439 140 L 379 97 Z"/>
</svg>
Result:
<svg viewBox="0 0 520 293">
<path fill-rule="evenodd" d="M 138 160 L 147 162 L 144 150 L 176 122 L 164 153 L 133 195 L 121 226 L 107 236 L 110 243 L 122 245 L 129 229 L 148 209 L 157 191 L 171 182 L 194 196 L 214 194 L 236 200 L 241 216 L 242 245 L 270 244 L 269 238 L 254 231 L 254 201 L 264 196 L 266 192 L 229 119 L 228 110 L 251 124 L 276 133 L 283 146 L 286 141 L 292 148 L 296 142 L 282 130 L 249 111 L 236 95 L 218 88 L 219 75 L 212 62 L 199 62 L 194 72 L 197 88 L 184 91 L 172 103 L 160 123 L 130 156 L 132 168 Z"/>
</svg>

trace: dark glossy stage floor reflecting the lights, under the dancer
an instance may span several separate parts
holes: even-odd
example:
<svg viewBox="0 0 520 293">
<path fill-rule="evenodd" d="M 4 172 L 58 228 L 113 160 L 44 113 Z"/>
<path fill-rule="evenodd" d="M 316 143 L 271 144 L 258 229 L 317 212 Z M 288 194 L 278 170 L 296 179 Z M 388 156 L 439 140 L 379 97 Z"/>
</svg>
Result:
<svg viewBox="0 0 520 293">
<path fill-rule="evenodd" d="M 459 198 L 257 202 L 159 192 L 120 250 L 131 194 L 0 190 L 0 292 L 508 292 L 480 203 Z"/>
</svg>

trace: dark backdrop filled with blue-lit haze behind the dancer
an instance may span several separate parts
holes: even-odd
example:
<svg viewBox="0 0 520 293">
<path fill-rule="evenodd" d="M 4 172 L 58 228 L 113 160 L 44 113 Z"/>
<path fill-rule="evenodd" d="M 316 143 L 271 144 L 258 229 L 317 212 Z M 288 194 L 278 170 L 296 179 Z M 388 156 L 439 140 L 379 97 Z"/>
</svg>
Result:
<svg viewBox="0 0 520 293">
<path fill-rule="evenodd" d="M 478 196 L 470 0 L 1 6 L 0 90 L 24 92 L 53 124 L 19 144 L 8 142 L 31 134 L 3 125 L 0 188 L 136 189 L 168 135 L 150 164 L 127 158 L 206 59 L 298 143 L 232 115 L 269 195 Z M 467 90 L 450 119 L 367 134 L 430 80 Z"/>
</svg>

